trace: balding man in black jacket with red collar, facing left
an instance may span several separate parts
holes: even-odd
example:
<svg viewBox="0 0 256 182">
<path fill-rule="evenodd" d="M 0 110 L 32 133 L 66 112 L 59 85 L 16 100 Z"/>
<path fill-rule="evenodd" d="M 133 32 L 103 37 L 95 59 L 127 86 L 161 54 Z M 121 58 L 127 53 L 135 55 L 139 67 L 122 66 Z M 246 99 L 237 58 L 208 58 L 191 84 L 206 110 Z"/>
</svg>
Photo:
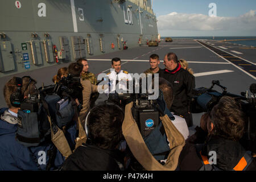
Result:
<svg viewBox="0 0 256 182">
<path fill-rule="evenodd" d="M 169 109 L 176 115 L 183 116 L 188 127 L 191 127 L 193 119 L 189 107 L 192 100 L 192 89 L 195 88 L 195 77 L 181 68 L 177 56 L 173 52 L 164 56 L 164 66 L 166 68 L 159 72 L 159 77 L 169 81 L 175 93 L 174 103 Z"/>
</svg>

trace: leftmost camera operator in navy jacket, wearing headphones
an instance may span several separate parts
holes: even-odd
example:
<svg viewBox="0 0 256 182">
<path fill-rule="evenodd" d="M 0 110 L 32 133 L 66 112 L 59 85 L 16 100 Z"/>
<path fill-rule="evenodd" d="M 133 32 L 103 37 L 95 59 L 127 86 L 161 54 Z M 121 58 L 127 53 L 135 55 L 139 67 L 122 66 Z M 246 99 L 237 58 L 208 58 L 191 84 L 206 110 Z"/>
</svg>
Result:
<svg viewBox="0 0 256 182">
<path fill-rule="evenodd" d="M 44 136 L 44 141 L 38 146 L 30 147 L 21 144 L 16 138 L 19 127 L 26 127 L 18 118 L 20 104 L 24 98 L 38 94 L 35 84 L 36 81 L 29 76 L 13 77 L 5 84 L 3 94 L 9 108 L 0 110 L 0 170 L 52 170 L 58 169 L 64 162 L 64 156 L 51 142 L 50 134 Z M 47 124 L 48 121 L 41 123 L 40 127 Z M 72 127 L 67 128 L 66 133 L 72 138 L 76 133 L 72 133 L 74 130 Z"/>
</svg>

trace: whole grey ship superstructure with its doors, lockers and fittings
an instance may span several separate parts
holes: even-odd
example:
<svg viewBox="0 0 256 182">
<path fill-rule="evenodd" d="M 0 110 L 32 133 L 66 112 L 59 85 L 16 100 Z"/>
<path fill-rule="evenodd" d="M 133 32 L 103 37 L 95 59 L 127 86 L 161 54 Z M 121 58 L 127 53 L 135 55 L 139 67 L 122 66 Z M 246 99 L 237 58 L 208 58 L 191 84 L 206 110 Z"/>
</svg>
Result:
<svg viewBox="0 0 256 182">
<path fill-rule="evenodd" d="M 0 1 L 0 77 L 158 39 L 149 0 Z"/>
</svg>

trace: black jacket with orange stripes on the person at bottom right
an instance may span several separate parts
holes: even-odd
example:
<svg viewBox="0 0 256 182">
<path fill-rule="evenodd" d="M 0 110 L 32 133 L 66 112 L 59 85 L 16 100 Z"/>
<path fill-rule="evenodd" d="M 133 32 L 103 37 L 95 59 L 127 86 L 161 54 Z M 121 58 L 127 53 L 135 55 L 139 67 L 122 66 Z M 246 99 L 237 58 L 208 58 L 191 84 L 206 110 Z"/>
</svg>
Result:
<svg viewBox="0 0 256 182">
<path fill-rule="evenodd" d="M 203 142 L 203 148 L 201 154 L 210 158 L 209 151 L 216 151 L 217 163 L 216 167 L 223 171 L 232 170 L 238 162 L 245 155 L 246 150 L 241 146 L 239 142 L 220 138 L 220 137 L 208 137 L 207 133 L 201 128 L 197 127 L 196 133 L 186 140 L 183 150 L 179 156 L 179 170 L 181 171 L 197 171 L 202 166 L 201 158 L 196 151 L 196 143 L 202 143 L 207 139 L 207 142 Z M 256 170 L 255 158 L 246 168 L 246 171 Z"/>
</svg>

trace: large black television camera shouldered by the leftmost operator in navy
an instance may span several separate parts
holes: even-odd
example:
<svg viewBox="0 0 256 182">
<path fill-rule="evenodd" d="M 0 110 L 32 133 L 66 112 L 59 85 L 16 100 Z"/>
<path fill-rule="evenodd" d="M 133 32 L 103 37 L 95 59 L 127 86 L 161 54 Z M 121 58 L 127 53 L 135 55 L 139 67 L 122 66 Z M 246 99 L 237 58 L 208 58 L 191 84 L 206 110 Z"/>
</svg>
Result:
<svg viewBox="0 0 256 182">
<path fill-rule="evenodd" d="M 69 75 L 55 85 L 43 85 L 38 89 L 38 94 L 29 95 L 20 103 L 16 138 L 25 146 L 38 146 L 51 138 L 48 116 L 51 117 L 54 131 L 57 131 L 57 127 L 63 129 L 68 126 L 75 114 L 75 98 L 82 102 L 80 78 Z"/>
</svg>

